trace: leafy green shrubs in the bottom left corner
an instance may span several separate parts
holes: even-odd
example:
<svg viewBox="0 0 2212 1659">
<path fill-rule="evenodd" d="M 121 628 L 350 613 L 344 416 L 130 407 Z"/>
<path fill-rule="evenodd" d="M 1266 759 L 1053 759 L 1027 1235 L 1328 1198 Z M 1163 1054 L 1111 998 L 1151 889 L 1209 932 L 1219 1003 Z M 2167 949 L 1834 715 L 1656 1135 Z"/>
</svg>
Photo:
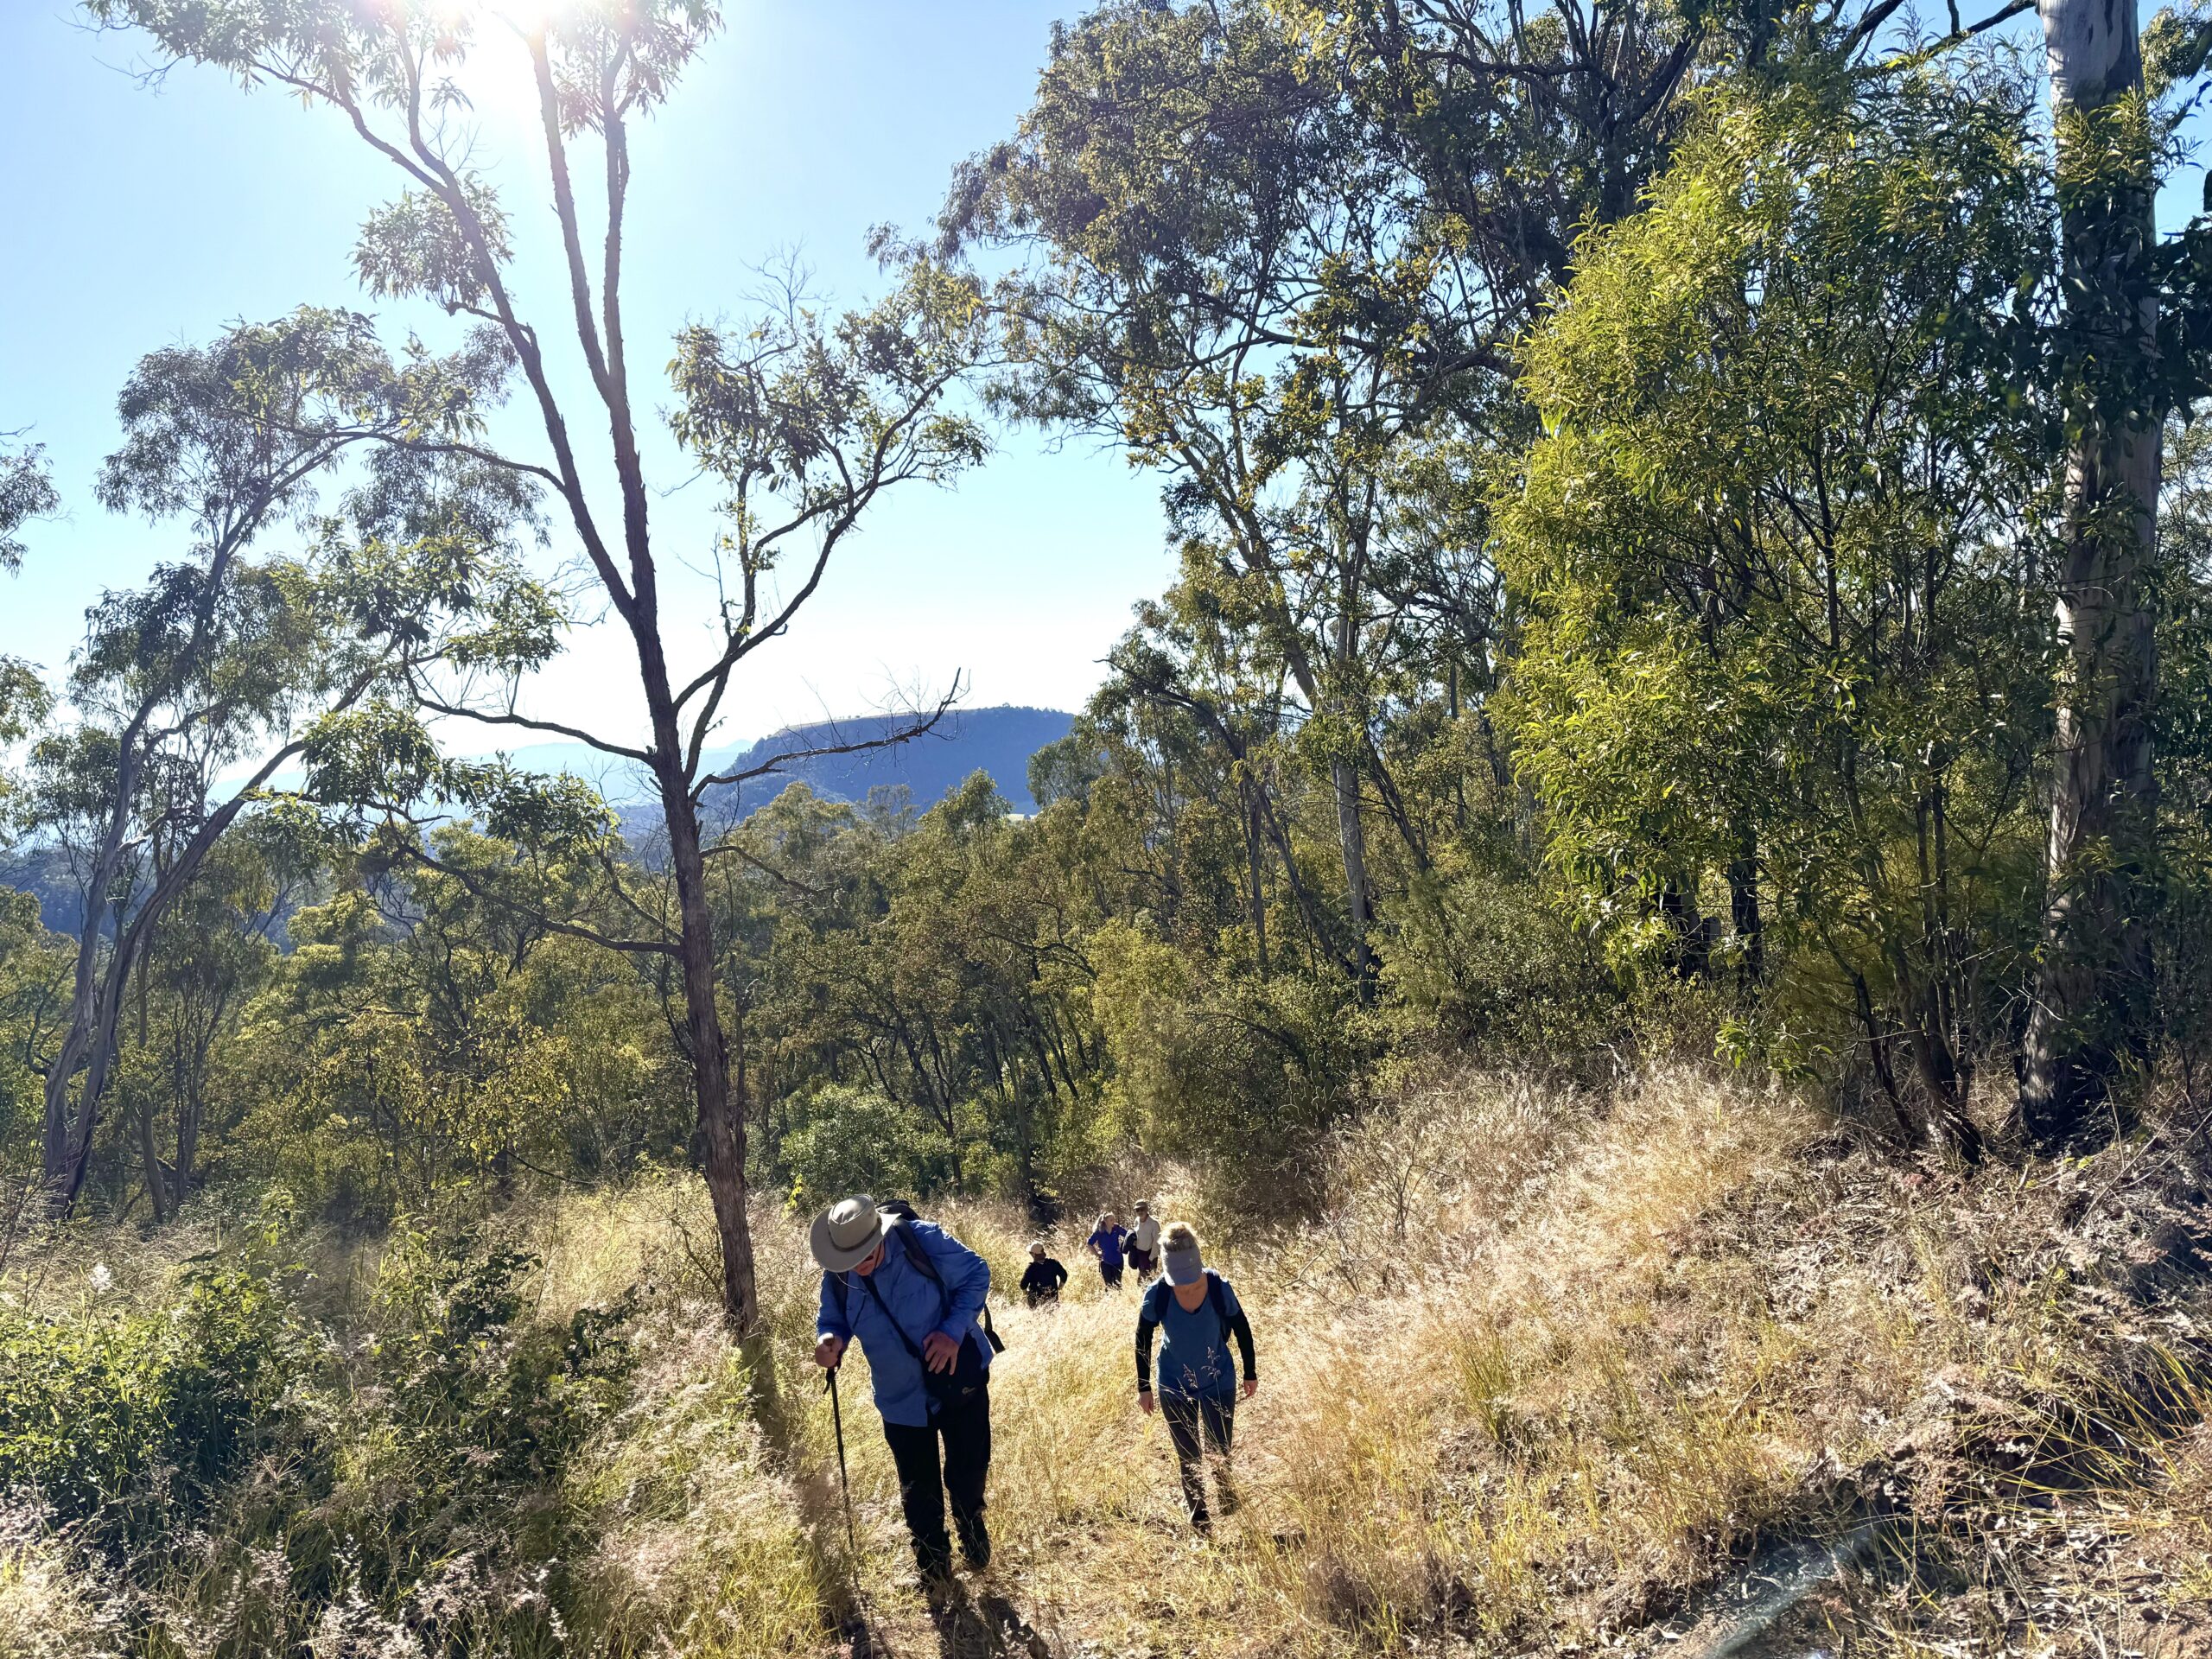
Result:
<svg viewBox="0 0 2212 1659">
<path fill-rule="evenodd" d="M 568 1462 L 628 1398 L 635 1301 L 533 1312 L 538 1261 L 394 1237 L 365 1323 L 234 1261 L 0 1314 L 0 1491 L 168 1595 L 153 1652 L 248 1659 L 361 1621 L 427 1652 L 557 1650 Z M 126 1305 L 128 1298 L 128 1305 Z"/>
</svg>

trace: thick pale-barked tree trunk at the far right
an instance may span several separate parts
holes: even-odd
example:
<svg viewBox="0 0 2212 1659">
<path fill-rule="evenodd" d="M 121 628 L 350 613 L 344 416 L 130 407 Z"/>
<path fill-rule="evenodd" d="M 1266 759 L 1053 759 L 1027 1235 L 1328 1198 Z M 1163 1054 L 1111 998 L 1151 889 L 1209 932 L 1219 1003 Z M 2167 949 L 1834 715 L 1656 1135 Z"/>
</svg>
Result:
<svg viewBox="0 0 2212 1659">
<path fill-rule="evenodd" d="M 2028 1011 L 2020 1119 L 2062 1137 L 2088 1117 L 2143 1035 L 2152 860 L 2150 560 L 2159 425 L 2152 407 L 2152 173 L 2135 0 L 2042 0 L 2057 108 L 2073 449 L 2057 577 L 2064 655 L 2051 787 L 2044 960 Z"/>
</svg>

